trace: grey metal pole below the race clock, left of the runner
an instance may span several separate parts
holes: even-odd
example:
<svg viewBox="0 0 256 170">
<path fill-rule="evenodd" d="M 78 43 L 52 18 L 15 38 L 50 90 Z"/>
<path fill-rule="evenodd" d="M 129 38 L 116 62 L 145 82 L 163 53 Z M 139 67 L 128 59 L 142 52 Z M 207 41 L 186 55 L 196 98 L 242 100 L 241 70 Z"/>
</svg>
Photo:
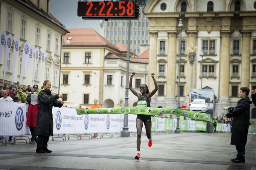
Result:
<svg viewBox="0 0 256 170">
<path fill-rule="evenodd" d="M 128 107 L 128 94 L 129 94 L 129 67 L 130 67 L 130 38 L 131 38 L 131 20 L 128 21 L 128 44 L 127 44 L 127 58 L 126 58 L 126 86 L 125 86 L 125 107 Z M 122 137 L 130 136 L 128 131 L 128 114 L 123 115 L 123 130 L 121 131 Z"/>
</svg>

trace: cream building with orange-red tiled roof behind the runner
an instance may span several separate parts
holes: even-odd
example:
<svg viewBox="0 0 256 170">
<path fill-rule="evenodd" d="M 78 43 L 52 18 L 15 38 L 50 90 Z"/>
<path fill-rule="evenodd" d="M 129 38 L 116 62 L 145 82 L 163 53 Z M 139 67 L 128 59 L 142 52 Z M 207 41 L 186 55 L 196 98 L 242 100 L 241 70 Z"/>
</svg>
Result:
<svg viewBox="0 0 256 170">
<path fill-rule="evenodd" d="M 63 42 L 61 61 L 60 90 L 64 98 L 89 108 L 94 99 L 105 108 L 123 106 L 127 47 L 111 44 L 93 29 L 69 31 L 64 40 L 72 39 L 70 44 Z M 143 55 L 137 57 L 132 51 L 130 57 L 130 74 L 137 72 L 134 87 L 136 78 L 137 84 L 146 83 L 148 59 Z M 136 96 L 129 92 L 129 105 L 135 102 Z"/>
</svg>

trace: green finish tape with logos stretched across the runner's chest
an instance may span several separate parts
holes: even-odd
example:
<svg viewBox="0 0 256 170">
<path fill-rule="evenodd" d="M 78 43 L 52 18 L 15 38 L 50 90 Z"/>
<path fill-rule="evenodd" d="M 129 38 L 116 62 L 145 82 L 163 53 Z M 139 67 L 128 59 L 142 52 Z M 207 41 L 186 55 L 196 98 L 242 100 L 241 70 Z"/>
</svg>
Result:
<svg viewBox="0 0 256 170">
<path fill-rule="evenodd" d="M 172 109 L 172 108 L 154 108 L 154 107 L 114 107 L 114 108 L 99 108 L 99 109 L 79 109 L 76 108 L 76 113 L 79 114 L 175 114 L 195 120 L 210 121 L 210 114 L 200 113 L 196 111 Z"/>
</svg>

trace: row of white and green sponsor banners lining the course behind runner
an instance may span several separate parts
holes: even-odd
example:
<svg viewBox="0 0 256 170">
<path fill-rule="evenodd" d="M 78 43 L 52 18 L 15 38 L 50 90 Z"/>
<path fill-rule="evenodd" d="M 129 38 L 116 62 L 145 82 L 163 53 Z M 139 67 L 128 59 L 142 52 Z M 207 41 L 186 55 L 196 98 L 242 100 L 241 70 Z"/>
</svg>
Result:
<svg viewBox="0 0 256 170">
<path fill-rule="evenodd" d="M 0 136 L 28 135 L 26 126 L 28 105 L 17 102 L 0 101 Z M 75 108 L 55 108 L 53 113 L 53 134 L 90 134 L 114 133 L 122 131 L 123 114 L 76 114 Z M 136 132 L 136 116 L 128 115 L 128 128 Z M 177 120 L 161 117 L 152 117 L 152 131 L 174 131 Z M 206 131 L 207 123 L 198 120 L 180 120 L 181 131 Z M 229 124 L 217 124 L 217 131 L 230 132 Z M 143 126 L 142 131 L 145 131 Z M 256 126 L 250 126 L 248 132 L 256 132 Z"/>
</svg>

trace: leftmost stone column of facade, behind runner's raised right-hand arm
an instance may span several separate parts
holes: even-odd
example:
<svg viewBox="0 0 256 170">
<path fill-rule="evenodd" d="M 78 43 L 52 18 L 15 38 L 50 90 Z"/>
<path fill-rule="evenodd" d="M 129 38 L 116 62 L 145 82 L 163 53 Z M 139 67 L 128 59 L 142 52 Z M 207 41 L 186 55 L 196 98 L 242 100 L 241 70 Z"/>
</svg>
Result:
<svg viewBox="0 0 256 170">
<path fill-rule="evenodd" d="M 157 32 L 149 32 L 149 59 L 148 59 L 148 89 L 152 91 L 155 89 L 154 82 L 151 78 L 151 73 L 155 73 L 155 80 L 157 80 Z M 155 106 L 156 98 L 152 96 L 151 107 Z"/>
</svg>

